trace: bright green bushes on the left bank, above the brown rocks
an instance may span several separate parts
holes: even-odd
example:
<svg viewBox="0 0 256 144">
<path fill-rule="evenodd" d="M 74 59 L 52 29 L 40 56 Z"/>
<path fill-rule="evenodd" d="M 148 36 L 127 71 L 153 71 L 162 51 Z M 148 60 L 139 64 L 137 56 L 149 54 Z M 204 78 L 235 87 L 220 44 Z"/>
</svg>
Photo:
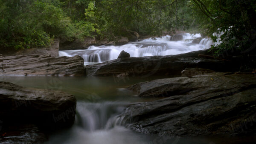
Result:
<svg viewBox="0 0 256 144">
<path fill-rule="evenodd" d="M 0 0 L 0 12 L 0 45 L 6 48 L 42 47 L 54 37 L 72 41 L 97 31 L 93 23 L 70 20 L 58 0 Z"/>
</svg>

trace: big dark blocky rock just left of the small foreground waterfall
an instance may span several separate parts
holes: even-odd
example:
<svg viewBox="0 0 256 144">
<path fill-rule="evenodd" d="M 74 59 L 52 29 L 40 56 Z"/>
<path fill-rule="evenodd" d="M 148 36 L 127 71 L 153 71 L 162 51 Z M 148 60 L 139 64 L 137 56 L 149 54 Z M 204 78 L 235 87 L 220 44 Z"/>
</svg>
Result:
<svg viewBox="0 0 256 144">
<path fill-rule="evenodd" d="M 75 115 L 73 95 L 0 82 L 0 118 L 4 125 L 36 124 L 49 131 L 72 126 Z"/>
</svg>

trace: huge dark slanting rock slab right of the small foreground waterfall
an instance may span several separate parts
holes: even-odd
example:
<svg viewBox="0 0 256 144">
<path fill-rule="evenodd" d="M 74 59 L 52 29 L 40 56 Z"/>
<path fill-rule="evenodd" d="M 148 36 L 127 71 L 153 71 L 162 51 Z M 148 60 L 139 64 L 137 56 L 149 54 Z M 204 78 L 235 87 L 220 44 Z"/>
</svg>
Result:
<svg viewBox="0 0 256 144">
<path fill-rule="evenodd" d="M 133 87 L 140 96 L 168 96 L 132 104 L 122 112 L 120 124 L 137 132 L 168 136 L 256 134 L 253 74 L 213 72 Z"/>
</svg>

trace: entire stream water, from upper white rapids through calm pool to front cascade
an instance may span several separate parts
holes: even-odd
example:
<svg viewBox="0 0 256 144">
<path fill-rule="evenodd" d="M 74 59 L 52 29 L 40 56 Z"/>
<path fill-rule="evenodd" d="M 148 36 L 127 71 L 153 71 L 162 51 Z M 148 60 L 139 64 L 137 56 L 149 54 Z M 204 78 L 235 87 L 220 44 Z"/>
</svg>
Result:
<svg viewBox="0 0 256 144">
<path fill-rule="evenodd" d="M 183 40 L 170 41 L 170 36 L 149 38 L 122 46 L 90 46 L 85 50 L 59 51 L 60 56 L 80 55 L 84 64 L 102 63 L 116 59 L 122 50 L 131 57 L 151 55 L 177 55 L 207 49 L 212 44 L 204 38 L 192 43 L 200 34 L 183 34 Z M 140 98 L 128 86 L 142 81 L 166 78 L 158 77 L 23 77 L 3 76 L 0 81 L 42 89 L 55 89 L 76 96 L 76 120 L 73 127 L 50 133 L 47 144 L 215 144 L 217 138 L 180 138 L 144 135 L 121 126 L 117 116 L 137 102 L 154 101 L 157 98 Z"/>
</svg>

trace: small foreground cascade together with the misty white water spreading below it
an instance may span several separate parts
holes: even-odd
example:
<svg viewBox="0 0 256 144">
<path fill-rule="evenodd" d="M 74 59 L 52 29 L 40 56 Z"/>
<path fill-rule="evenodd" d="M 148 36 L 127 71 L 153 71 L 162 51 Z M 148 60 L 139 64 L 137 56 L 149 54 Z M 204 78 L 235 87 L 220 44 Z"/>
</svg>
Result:
<svg viewBox="0 0 256 144">
<path fill-rule="evenodd" d="M 78 102 L 74 126 L 71 130 L 52 135 L 49 143 L 73 144 L 76 141 L 76 144 L 148 144 L 151 139 L 146 135 L 113 125 L 112 120 L 127 104 Z"/>
</svg>

